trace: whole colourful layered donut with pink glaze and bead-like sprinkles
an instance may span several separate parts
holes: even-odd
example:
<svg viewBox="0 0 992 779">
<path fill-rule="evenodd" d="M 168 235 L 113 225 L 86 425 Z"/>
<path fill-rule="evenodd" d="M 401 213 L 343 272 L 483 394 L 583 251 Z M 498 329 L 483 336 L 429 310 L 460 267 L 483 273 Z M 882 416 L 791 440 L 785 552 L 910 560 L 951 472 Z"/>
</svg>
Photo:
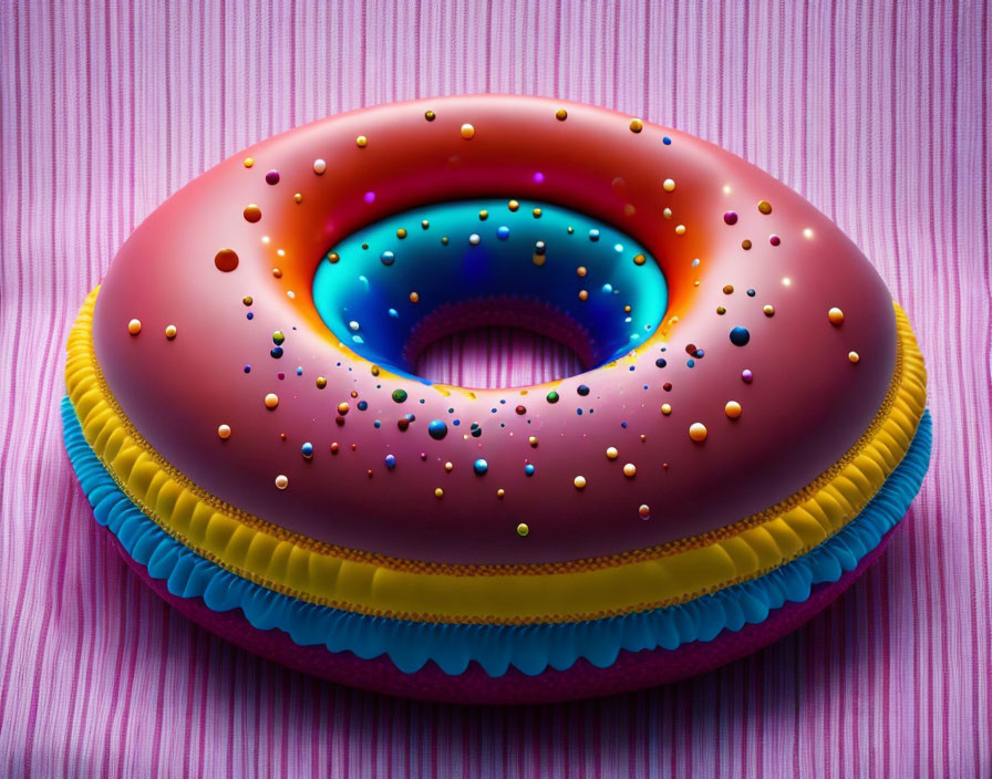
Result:
<svg viewBox="0 0 992 779">
<path fill-rule="evenodd" d="M 570 367 L 424 368 L 495 325 Z M 450 702 L 767 645 L 882 551 L 931 439 L 908 319 L 826 216 L 679 131 L 521 96 L 364 108 L 220 163 L 121 248 L 65 383 L 82 489 L 163 599 Z"/>
</svg>

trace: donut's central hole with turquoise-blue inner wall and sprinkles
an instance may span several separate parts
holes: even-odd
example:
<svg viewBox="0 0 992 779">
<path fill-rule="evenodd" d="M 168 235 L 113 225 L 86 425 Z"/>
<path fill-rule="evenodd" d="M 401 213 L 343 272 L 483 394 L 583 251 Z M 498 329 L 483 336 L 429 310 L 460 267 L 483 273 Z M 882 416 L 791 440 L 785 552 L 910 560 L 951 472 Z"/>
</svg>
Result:
<svg viewBox="0 0 992 779">
<path fill-rule="evenodd" d="M 589 216 L 459 200 L 388 217 L 331 247 L 313 301 L 369 362 L 425 383 L 509 387 L 623 356 L 654 333 L 668 288 L 643 246 Z M 438 367 L 438 350 L 466 344 L 450 361 L 459 370 Z M 531 370 L 509 370 L 513 361 Z"/>
</svg>

